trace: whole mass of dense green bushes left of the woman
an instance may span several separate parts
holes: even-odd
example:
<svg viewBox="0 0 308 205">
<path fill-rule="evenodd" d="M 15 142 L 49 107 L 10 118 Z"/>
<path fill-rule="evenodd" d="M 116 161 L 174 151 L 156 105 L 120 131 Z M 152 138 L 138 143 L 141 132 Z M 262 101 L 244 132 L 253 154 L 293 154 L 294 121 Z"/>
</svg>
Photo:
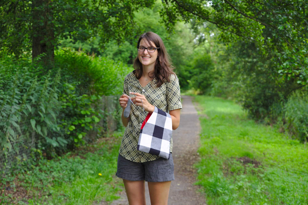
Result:
<svg viewBox="0 0 308 205">
<path fill-rule="evenodd" d="M 36 146 L 52 157 L 89 141 L 90 130 L 101 134 L 101 126 L 96 126 L 106 117 L 99 108 L 101 96 L 120 95 L 130 70 L 121 63 L 69 49 L 56 52 L 55 68 L 48 72 L 27 59 L 2 57 L 1 148 L 9 151 L 16 135 L 29 137 L 33 130 Z M 21 126 L 22 116 L 30 120 L 28 126 Z"/>
</svg>

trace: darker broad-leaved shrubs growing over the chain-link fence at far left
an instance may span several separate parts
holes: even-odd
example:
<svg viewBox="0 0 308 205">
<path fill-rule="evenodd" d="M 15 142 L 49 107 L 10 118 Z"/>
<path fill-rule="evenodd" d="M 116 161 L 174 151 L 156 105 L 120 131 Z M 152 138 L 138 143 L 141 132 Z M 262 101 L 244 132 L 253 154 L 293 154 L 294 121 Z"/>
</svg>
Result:
<svg viewBox="0 0 308 205">
<path fill-rule="evenodd" d="M 11 80 L 2 78 L 6 78 L 6 89 L 0 91 L 0 145 L 11 151 L 20 135 L 29 138 L 32 132 L 37 134 L 36 145 L 47 156 L 83 144 L 84 130 L 99 121 L 99 113 L 91 108 L 99 98 L 77 96 L 74 85 L 60 84 L 61 70 L 40 79 L 29 70 L 34 68 L 17 67 L 14 75 L 8 74 Z"/>
</svg>

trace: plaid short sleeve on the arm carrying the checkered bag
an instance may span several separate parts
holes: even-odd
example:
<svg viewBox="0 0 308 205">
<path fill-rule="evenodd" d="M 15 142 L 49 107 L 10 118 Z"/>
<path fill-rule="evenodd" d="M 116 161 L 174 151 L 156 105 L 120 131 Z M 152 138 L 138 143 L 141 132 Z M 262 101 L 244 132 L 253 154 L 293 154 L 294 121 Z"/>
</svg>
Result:
<svg viewBox="0 0 308 205">
<path fill-rule="evenodd" d="M 166 82 L 166 99 L 168 110 L 181 109 L 182 103 L 179 79 L 175 74 L 172 74 L 169 79 L 170 82 Z"/>
</svg>

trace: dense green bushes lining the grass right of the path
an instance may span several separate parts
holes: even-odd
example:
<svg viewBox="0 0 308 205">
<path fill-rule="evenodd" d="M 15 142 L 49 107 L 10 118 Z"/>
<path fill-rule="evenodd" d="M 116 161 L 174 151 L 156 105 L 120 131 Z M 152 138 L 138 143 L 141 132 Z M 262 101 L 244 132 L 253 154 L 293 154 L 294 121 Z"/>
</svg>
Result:
<svg viewBox="0 0 308 205">
<path fill-rule="evenodd" d="M 285 77 L 277 69 L 275 57 L 261 53 L 253 43 L 238 41 L 224 45 L 217 38 L 207 40 L 199 52 L 202 55 L 198 55 L 201 49 L 197 48 L 191 57 L 190 88 L 200 94 L 233 99 L 252 119 L 277 124 L 281 131 L 305 141 L 307 86 L 292 75 Z M 212 44 L 216 47 L 211 48 Z"/>
</svg>

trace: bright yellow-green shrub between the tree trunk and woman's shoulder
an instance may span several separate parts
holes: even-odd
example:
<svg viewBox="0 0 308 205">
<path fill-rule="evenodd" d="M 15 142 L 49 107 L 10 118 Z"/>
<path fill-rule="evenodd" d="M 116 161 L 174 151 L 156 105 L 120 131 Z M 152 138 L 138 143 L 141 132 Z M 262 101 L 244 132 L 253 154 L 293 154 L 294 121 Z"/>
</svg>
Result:
<svg viewBox="0 0 308 205">
<path fill-rule="evenodd" d="M 121 62 L 88 56 L 68 48 L 55 52 L 55 62 L 58 67 L 67 71 L 69 82 L 80 82 L 78 88 L 82 94 L 87 91 L 105 96 L 119 95 L 123 91 L 124 77 L 132 71 L 131 67 Z"/>
</svg>

